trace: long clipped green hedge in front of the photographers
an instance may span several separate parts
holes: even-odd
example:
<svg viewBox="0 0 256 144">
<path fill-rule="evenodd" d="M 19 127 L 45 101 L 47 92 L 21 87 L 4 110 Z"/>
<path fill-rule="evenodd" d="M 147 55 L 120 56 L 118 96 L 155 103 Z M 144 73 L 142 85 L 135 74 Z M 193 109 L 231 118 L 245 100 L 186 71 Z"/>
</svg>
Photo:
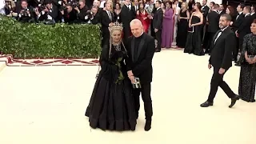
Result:
<svg viewBox="0 0 256 144">
<path fill-rule="evenodd" d="M 14 58 L 98 58 L 99 25 L 20 23 L 0 14 L 0 52 Z"/>
</svg>

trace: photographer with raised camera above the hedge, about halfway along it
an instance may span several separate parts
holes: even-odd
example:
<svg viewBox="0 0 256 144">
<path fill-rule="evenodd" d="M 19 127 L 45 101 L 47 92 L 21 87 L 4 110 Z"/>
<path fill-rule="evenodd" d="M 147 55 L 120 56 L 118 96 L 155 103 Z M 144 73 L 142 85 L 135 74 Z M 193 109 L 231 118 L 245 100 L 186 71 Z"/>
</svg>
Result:
<svg viewBox="0 0 256 144">
<path fill-rule="evenodd" d="M 58 7 L 54 6 L 51 0 L 46 0 L 45 5 L 34 9 L 38 21 L 50 23 L 58 22 Z"/>
</svg>

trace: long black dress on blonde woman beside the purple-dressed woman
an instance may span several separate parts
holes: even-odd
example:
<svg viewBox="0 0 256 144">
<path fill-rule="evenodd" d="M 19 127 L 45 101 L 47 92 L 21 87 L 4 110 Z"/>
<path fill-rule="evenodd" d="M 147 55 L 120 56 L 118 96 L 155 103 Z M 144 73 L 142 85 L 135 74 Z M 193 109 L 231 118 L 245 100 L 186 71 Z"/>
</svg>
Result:
<svg viewBox="0 0 256 144">
<path fill-rule="evenodd" d="M 186 11 L 182 10 L 180 11 L 180 17 L 184 17 L 186 18 Z M 188 20 L 182 18 L 179 22 L 178 22 L 178 32 L 177 32 L 177 44 L 176 46 L 184 48 L 186 46 L 186 34 L 187 34 L 187 27 L 188 27 Z"/>
</svg>

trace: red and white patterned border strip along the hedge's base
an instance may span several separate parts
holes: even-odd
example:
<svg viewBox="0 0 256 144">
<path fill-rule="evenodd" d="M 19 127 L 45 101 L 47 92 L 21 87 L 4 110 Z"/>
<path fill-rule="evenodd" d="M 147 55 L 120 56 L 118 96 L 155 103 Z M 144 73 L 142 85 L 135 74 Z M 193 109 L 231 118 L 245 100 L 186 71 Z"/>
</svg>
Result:
<svg viewBox="0 0 256 144">
<path fill-rule="evenodd" d="M 97 66 L 96 58 L 38 58 L 14 59 L 10 54 L 0 54 L 0 62 L 6 66 Z"/>
</svg>

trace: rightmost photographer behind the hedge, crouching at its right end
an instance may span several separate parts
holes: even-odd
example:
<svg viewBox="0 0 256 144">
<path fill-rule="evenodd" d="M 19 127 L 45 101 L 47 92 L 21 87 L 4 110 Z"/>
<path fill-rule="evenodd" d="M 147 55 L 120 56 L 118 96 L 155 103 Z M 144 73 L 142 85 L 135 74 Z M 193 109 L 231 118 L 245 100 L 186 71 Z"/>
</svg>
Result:
<svg viewBox="0 0 256 144">
<path fill-rule="evenodd" d="M 87 23 L 96 25 L 96 24 L 100 23 L 100 19 L 101 19 L 101 17 L 98 14 L 98 7 L 93 6 L 91 8 L 91 10 L 87 12 L 87 15 L 86 15 Z"/>
</svg>

